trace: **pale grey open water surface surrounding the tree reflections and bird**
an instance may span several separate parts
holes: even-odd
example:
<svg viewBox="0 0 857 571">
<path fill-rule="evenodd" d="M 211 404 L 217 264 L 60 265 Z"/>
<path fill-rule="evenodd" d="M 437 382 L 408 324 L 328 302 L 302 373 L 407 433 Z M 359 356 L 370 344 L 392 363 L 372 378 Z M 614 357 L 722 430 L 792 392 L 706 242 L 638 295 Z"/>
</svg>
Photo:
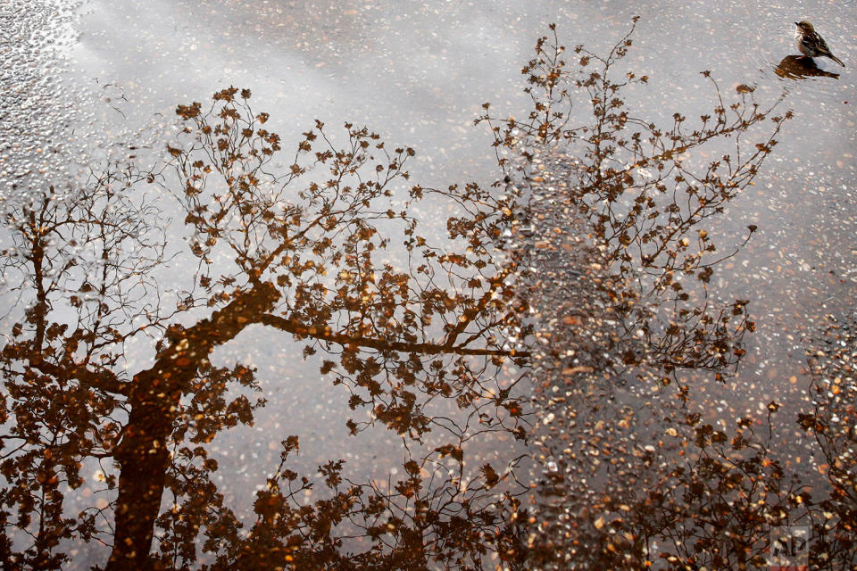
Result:
<svg viewBox="0 0 857 571">
<path fill-rule="evenodd" d="M 794 411 L 804 398 L 803 334 L 825 313 L 852 311 L 857 299 L 855 8 L 853 1 L 0 0 L 3 36 L 12 38 L 4 40 L 0 78 L 0 189 L 10 196 L 55 184 L 91 157 L 129 153 L 122 145 L 137 145 L 135 137 L 161 148 L 174 133 L 177 104 L 206 102 L 229 86 L 253 91 L 254 110 L 270 112 L 285 147 L 316 118 L 331 131 L 353 121 L 391 145 L 413 146 L 410 170 L 422 185 L 487 186 L 498 177 L 491 137 L 472 122 L 484 102 L 501 114 L 527 112 L 520 68 L 548 24 L 557 24 L 566 46 L 603 53 L 639 15 L 624 63 L 651 78 L 628 96 L 638 115 L 690 118 L 709 110 L 702 70 L 711 70 L 724 93 L 746 84 L 762 103 L 782 97 L 783 112 L 795 113 L 755 185 L 711 228 L 737 243 L 747 225 L 758 227 L 711 282 L 719 298 L 751 300 L 758 324 L 745 339 L 735 390 L 720 405 L 758 413 L 778 400 Z M 777 74 L 778 63 L 795 54 L 793 22 L 803 19 L 845 62 L 845 69 L 819 62 L 838 77 Z M 581 113 L 586 107 L 578 105 Z M 48 149 L 55 152 L 46 159 Z M 445 219 L 423 208 L 428 224 Z M 395 434 L 349 437 L 347 395 L 319 378 L 317 362 L 295 355 L 287 335 L 279 341 L 249 331 L 220 356 L 256 364 L 269 399 L 253 429 L 217 441 L 228 498 L 251 501 L 287 434 L 301 434 L 301 468 L 344 456 L 383 477 L 401 457 Z M 139 351 L 145 360 L 150 350 Z M 265 383 L 282 377 L 287 390 Z"/>
</svg>

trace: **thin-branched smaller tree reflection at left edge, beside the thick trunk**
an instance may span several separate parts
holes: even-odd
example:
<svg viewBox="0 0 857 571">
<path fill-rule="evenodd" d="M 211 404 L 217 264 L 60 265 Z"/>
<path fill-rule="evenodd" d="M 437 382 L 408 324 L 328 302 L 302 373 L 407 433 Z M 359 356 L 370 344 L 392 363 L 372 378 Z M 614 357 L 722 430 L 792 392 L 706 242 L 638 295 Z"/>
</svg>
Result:
<svg viewBox="0 0 857 571">
<path fill-rule="evenodd" d="M 13 245 L 4 277 L 21 276 L 16 293 L 27 306 L 2 352 L 3 504 L 17 510 L 4 524 L 7 536 L 9 526 L 32 536 L 16 565 L 56 567 L 62 539 L 95 533 L 96 514 L 64 517 L 63 490 L 84 484 L 82 459 L 115 450 L 130 387 L 115 372 L 124 343 L 171 317 L 146 319 L 156 311 L 147 275 L 164 260 L 163 240 L 158 212 L 129 199 L 128 181 L 111 173 L 73 200 L 51 189 L 5 213 Z M 69 308 L 73 319 L 54 321 Z"/>
</svg>

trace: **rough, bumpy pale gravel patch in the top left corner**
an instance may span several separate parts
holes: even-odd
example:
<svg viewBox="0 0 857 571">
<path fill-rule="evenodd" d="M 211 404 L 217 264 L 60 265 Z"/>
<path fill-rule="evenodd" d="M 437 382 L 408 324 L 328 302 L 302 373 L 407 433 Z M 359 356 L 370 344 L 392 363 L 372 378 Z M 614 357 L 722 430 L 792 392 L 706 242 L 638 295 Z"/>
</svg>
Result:
<svg viewBox="0 0 857 571">
<path fill-rule="evenodd" d="M 74 70 L 84 5 L 0 0 L 0 201 L 73 186 L 107 162 L 161 148 L 154 140 L 174 127 L 172 117 L 126 123 L 122 89 Z"/>
</svg>

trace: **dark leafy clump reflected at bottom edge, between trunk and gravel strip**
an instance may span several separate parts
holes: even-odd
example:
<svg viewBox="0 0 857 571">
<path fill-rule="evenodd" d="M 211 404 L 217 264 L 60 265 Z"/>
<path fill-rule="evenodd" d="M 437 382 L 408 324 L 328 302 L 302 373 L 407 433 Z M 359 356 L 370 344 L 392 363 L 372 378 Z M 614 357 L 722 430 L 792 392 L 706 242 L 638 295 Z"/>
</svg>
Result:
<svg viewBox="0 0 857 571">
<path fill-rule="evenodd" d="M 407 477 L 383 490 L 379 484 L 354 484 L 341 476 L 342 462 L 329 462 L 320 470 L 325 484 L 335 492 L 329 500 L 312 507 L 296 498 L 308 485 L 285 469 L 287 453 L 296 447 L 290 438 L 283 463 L 257 493 L 256 521 L 247 539 L 237 542 L 236 552 L 222 558 L 215 568 L 258 569 L 425 569 L 429 567 L 487 568 L 489 551 L 502 553 L 513 566 L 521 558 L 519 538 L 509 523 L 517 502 L 506 497 L 500 511 L 479 508 L 480 496 L 489 496 L 500 482 L 493 468 L 484 467 L 472 482 L 475 492 L 450 485 L 432 474 L 426 460 L 404 464 Z M 440 477 L 440 486 L 432 479 Z M 503 506 L 505 506 L 503 508 Z M 363 550 L 344 550 L 342 538 L 332 537 L 333 526 L 353 525 Z"/>
</svg>

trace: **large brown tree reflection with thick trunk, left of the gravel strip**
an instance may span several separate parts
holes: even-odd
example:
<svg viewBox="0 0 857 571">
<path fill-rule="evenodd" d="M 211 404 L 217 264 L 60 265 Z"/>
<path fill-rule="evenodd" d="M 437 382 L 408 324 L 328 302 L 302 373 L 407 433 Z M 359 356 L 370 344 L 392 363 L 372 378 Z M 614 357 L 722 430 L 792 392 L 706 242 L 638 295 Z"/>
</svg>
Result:
<svg viewBox="0 0 857 571">
<path fill-rule="evenodd" d="M 508 303 L 512 263 L 490 257 L 480 221 L 453 222 L 462 252 L 418 236 L 407 209 L 390 206 L 413 151 L 387 150 L 366 129 L 346 125 L 337 148 L 317 123 L 277 174 L 279 137 L 249 98 L 229 88 L 208 111 L 180 105 L 184 138 L 159 170 L 114 169 L 69 194 L 7 205 L 4 277 L 18 278 L 12 293 L 27 308 L 0 357 L 8 566 L 61 567 L 67 542 L 82 540 L 110 546 L 108 569 L 188 567 L 198 551 L 223 568 L 420 568 L 436 558 L 467 568 L 514 541 L 502 506 L 487 509 L 511 474 L 489 464 L 470 474 L 462 451 L 479 431 L 524 434 L 513 385 L 491 380 L 526 357 L 503 346 L 521 309 Z M 183 275 L 168 270 L 187 259 L 146 185 L 184 210 L 196 264 Z M 415 186 L 409 204 L 425 192 Z M 475 192 L 437 194 L 484 211 Z M 377 261 L 397 232 L 404 269 Z M 163 286 L 181 278 L 178 294 Z M 304 354 L 328 352 L 322 373 L 348 386 L 352 408 L 369 406 L 406 442 L 438 426 L 448 442 L 412 455 L 387 489 L 345 484 L 331 461 L 321 468 L 329 497 L 304 505 L 296 494 L 313 483 L 287 468 L 289 437 L 255 502 L 259 519 L 241 531 L 204 444 L 252 423 L 264 400 L 247 397 L 260 388 L 254 368 L 209 358 L 254 325 L 292 335 Z M 133 370 L 125 349 L 147 338 L 154 357 Z M 441 399 L 464 420 L 434 418 L 427 407 Z M 71 514 L 66 496 L 84 489 L 92 462 L 104 480 L 96 493 L 115 500 Z M 161 512 L 165 492 L 172 508 Z"/>
</svg>

